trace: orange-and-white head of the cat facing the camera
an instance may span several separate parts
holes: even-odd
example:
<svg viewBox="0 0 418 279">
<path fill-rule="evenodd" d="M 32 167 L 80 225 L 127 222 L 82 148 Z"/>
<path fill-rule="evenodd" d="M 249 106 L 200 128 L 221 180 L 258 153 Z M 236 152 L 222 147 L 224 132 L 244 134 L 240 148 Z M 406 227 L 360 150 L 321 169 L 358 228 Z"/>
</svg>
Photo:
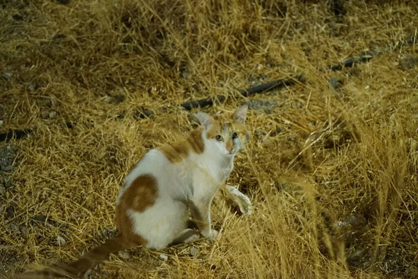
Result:
<svg viewBox="0 0 418 279">
<path fill-rule="evenodd" d="M 196 116 L 203 126 L 205 145 L 214 147 L 216 151 L 224 155 L 234 156 L 241 151 L 245 142 L 249 140 L 249 132 L 245 128 L 247 111 L 247 105 L 243 105 L 233 114 L 210 116 L 204 112 L 198 112 Z"/>
</svg>

